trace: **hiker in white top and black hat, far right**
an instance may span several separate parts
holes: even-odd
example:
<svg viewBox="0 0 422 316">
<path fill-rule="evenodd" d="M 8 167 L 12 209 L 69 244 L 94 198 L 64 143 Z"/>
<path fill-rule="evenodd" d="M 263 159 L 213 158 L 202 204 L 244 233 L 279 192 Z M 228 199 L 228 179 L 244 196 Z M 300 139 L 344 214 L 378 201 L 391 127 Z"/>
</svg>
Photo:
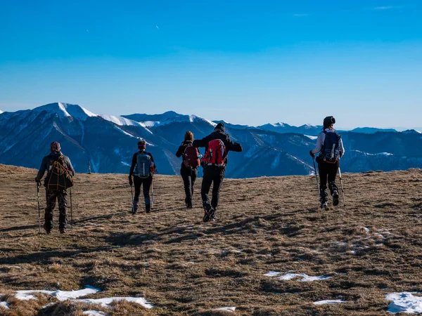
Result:
<svg viewBox="0 0 422 316">
<path fill-rule="evenodd" d="M 327 180 L 333 197 L 333 206 L 338 205 L 338 187 L 335 184 L 335 176 L 340 166 L 340 157 L 343 157 L 345 153 L 341 136 L 335 131 L 333 124 L 335 124 L 334 117 L 324 119 L 324 127 L 318 135 L 316 147 L 309 151 L 312 158 L 319 153 L 316 162 L 319 172 L 319 202 L 321 202 L 322 209 L 327 207 Z"/>
</svg>

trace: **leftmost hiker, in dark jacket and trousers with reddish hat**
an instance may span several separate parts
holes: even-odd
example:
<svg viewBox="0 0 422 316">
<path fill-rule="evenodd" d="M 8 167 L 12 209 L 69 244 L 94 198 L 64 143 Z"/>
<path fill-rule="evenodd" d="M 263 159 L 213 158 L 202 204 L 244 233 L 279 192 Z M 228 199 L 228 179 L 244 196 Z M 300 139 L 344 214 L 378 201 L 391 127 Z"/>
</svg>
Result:
<svg viewBox="0 0 422 316">
<path fill-rule="evenodd" d="M 62 154 L 62 152 L 60 151 L 60 144 L 58 142 L 53 142 L 50 144 L 50 154 L 42 159 L 38 174 L 35 177 L 35 181 L 37 181 L 37 185 L 39 187 L 41 185 L 41 178 L 44 176 L 44 172 L 47 171 L 46 178 L 44 179 L 44 187 L 46 187 L 44 230 L 47 234 L 49 234 L 51 232 L 51 229 L 53 228 L 53 209 L 56 207 L 56 198 L 58 199 L 58 230 L 60 234 L 66 232 L 66 226 L 68 225 L 68 191 L 66 190 L 67 185 L 65 183 L 53 184 L 53 181 L 56 181 L 56 178 L 58 178 L 56 170 L 60 169 L 61 166 L 63 166 L 65 169 L 63 173 L 68 171 L 68 174 L 70 176 L 75 176 L 75 170 L 73 169 L 69 157 Z M 55 190 L 51 189 L 52 187 Z"/>
</svg>

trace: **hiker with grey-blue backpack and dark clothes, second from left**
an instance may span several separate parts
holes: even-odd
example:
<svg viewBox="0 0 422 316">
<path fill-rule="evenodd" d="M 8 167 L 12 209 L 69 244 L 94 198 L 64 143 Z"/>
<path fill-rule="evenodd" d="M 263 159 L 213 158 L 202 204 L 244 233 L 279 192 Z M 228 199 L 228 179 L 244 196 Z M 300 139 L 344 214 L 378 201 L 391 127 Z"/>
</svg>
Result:
<svg viewBox="0 0 422 316">
<path fill-rule="evenodd" d="M 141 194 L 141 185 L 143 185 L 143 197 L 145 198 L 145 211 L 151 211 L 151 198 L 149 191 L 151 183 L 153 183 L 153 173 L 155 172 L 155 164 L 153 155 L 146 152 L 146 141 L 139 140 L 139 152 L 135 152 L 132 157 L 132 165 L 129 171 L 129 185 L 135 185 L 135 196 L 133 199 L 132 213 L 138 211 L 139 195 Z M 133 181 L 132 181 L 133 176 Z"/>
</svg>

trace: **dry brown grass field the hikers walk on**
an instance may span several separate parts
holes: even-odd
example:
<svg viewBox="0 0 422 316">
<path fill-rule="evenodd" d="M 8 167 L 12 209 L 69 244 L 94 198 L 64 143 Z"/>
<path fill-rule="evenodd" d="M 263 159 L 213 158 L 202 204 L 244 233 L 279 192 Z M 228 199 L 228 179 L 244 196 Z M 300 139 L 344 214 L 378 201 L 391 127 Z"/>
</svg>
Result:
<svg viewBox="0 0 422 316">
<path fill-rule="evenodd" d="M 127 175 L 77 174 L 65 235 L 58 211 L 51 235 L 39 234 L 35 175 L 0 165 L 0 301 L 9 305 L 0 315 L 391 315 L 386 294 L 422 291 L 419 169 L 345 173 L 347 206 L 340 199 L 324 212 L 314 177 L 225 179 L 219 220 L 209 223 L 201 179 L 186 210 L 181 178 L 156 176 L 155 208 L 132 216 Z M 44 205 L 41 189 L 41 213 Z M 330 278 L 278 278 L 287 272 Z M 141 296 L 154 308 L 13 295 L 87 285 L 101 292 L 84 298 Z M 215 310 L 225 307 L 236 310 Z"/>
</svg>

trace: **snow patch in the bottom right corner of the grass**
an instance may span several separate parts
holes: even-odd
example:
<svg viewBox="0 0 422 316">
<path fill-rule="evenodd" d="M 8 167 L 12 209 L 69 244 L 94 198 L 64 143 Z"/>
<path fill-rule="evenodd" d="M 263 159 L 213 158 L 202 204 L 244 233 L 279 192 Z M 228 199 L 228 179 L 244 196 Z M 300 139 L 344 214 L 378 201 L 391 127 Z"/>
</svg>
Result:
<svg viewBox="0 0 422 316">
<path fill-rule="evenodd" d="M 388 312 L 407 312 L 409 314 L 422 313 L 422 297 L 414 296 L 417 292 L 392 293 L 385 296 L 387 301 L 392 301 L 388 305 Z"/>
</svg>

